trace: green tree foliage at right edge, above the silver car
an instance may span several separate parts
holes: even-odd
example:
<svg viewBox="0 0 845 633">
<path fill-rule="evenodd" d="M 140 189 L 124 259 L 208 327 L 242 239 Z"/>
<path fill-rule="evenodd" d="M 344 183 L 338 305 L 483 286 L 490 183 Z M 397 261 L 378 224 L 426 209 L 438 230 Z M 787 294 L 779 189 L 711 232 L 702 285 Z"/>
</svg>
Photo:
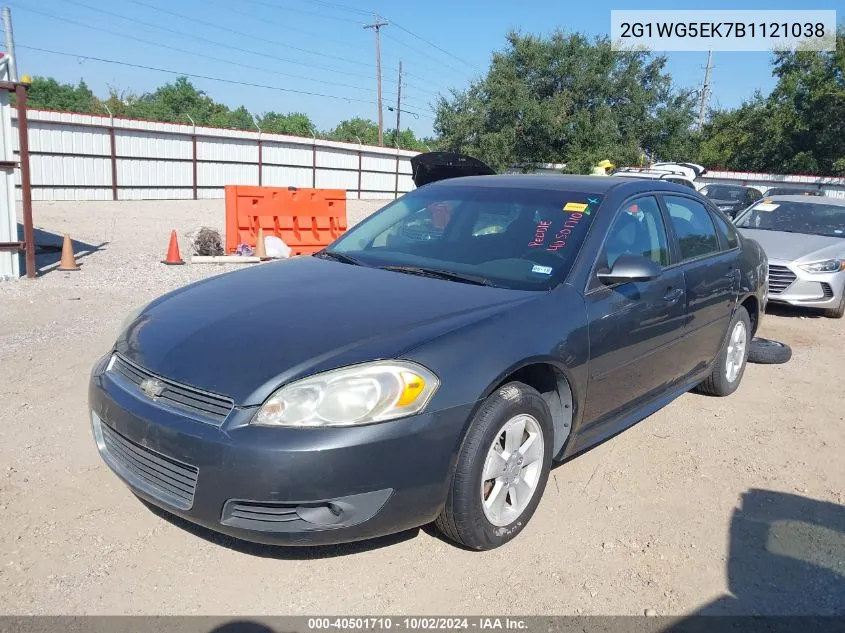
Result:
<svg viewBox="0 0 845 633">
<path fill-rule="evenodd" d="M 777 84 L 711 114 L 699 161 L 711 169 L 845 176 L 845 26 L 836 51 L 775 54 Z"/>
</svg>

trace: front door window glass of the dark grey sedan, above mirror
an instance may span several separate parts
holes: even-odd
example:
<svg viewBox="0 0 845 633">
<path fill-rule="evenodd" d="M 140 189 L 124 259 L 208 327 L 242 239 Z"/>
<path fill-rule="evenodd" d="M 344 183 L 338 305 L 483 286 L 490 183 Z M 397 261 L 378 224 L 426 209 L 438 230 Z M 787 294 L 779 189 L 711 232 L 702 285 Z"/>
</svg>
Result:
<svg viewBox="0 0 845 633">
<path fill-rule="evenodd" d="M 612 268 L 620 255 L 641 255 L 669 265 L 666 227 L 657 200 L 651 196 L 626 203 L 608 231 L 602 265 Z"/>
</svg>

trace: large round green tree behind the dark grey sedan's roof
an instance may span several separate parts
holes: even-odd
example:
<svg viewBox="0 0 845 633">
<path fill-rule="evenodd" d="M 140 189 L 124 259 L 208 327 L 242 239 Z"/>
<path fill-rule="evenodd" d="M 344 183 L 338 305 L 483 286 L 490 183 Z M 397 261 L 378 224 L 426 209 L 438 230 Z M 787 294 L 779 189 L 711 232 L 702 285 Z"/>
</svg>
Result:
<svg viewBox="0 0 845 633">
<path fill-rule="evenodd" d="M 494 168 L 551 162 L 585 173 L 604 158 L 636 164 L 642 150 L 688 159 L 693 98 L 673 87 L 665 64 L 615 52 L 607 37 L 511 32 L 484 78 L 441 97 L 435 131 Z"/>
</svg>

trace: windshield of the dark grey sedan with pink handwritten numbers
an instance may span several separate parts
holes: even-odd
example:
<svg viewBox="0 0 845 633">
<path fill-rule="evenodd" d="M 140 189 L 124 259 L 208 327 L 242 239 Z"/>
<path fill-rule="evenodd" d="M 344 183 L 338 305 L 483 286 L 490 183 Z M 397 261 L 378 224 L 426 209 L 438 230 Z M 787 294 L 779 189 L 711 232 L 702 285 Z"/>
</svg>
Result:
<svg viewBox="0 0 845 633">
<path fill-rule="evenodd" d="M 326 251 L 363 265 L 543 290 L 569 272 L 602 199 L 570 191 L 426 186 L 355 225 Z"/>
</svg>

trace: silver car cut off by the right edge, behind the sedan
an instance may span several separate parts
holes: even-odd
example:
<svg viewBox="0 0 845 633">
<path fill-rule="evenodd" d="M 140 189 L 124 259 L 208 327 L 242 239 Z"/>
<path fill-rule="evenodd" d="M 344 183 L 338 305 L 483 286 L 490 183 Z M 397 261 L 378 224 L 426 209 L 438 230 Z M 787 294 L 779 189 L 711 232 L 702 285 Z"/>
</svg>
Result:
<svg viewBox="0 0 845 633">
<path fill-rule="evenodd" d="M 734 220 L 769 258 L 771 303 L 820 308 L 845 314 L 845 200 L 815 196 L 772 196 Z"/>
</svg>

